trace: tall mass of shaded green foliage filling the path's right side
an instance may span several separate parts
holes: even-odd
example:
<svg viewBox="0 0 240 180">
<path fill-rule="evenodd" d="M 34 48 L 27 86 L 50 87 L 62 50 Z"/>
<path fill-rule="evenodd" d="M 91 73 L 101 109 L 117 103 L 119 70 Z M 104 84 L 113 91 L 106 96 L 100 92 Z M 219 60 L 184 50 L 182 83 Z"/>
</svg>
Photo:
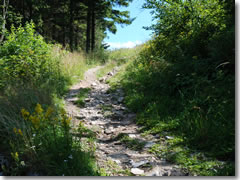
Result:
<svg viewBox="0 0 240 180">
<path fill-rule="evenodd" d="M 126 103 L 144 130 L 168 132 L 180 144 L 224 161 L 235 159 L 233 6 L 218 0 L 147 1 L 144 7 L 157 20 L 149 27 L 154 36 L 122 80 Z M 172 160 L 183 155 L 176 154 Z M 186 165 L 186 158 L 179 163 Z M 234 174 L 226 168 L 199 173 Z"/>
</svg>

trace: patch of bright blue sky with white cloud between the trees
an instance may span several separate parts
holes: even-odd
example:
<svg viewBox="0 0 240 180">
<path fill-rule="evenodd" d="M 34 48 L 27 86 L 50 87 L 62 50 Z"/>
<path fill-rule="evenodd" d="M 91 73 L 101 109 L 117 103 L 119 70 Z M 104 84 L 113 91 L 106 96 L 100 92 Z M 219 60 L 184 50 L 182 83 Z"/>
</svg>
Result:
<svg viewBox="0 0 240 180">
<path fill-rule="evenodd" d="M 151 31 L 143 29 L 143 26 L 152 24 L 152 16 L 149 9 L 142 9 L 144 0 L 133 0 L 128 8 L 119 8 L 120 10 L 130 11 L 130 17 L 136 17 L 131 25 L 117 25 L 117 33 L 107 32 L 108 37 L 104 42 L 110 45 L 110 49 L 131 48 L 141 44 L 151 38 Z"/>
</svg>

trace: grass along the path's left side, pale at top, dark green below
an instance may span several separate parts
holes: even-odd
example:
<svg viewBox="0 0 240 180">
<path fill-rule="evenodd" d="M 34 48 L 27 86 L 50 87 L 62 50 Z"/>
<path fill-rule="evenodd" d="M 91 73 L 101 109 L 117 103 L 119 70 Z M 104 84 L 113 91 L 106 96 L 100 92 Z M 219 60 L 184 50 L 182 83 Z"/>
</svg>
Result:
<svg viewBox="0 0 240 180">
<path fill-rule="evenodd" d="M 93 156 L 91 139 L 94 139 L 95 133 L 79 128 L 76 137 L 68 128 L 58 127 L 62 123 L 61 109 L 64 108 L 62 95 L 71 84 L 83 78 L 87 69 L 98 63 L 90 61 L 83 53 L 70 53 L 59 47 L 53 48 L 51 56 L 59 62 L 58 66 L 49 67 L 52 71 L 57 70 L 56 79 L 46 77 L 43 81 L 45 84 L 37 87 L 29 82 L 24 87 L 9 86 L 8 90 L 0 91 L 0 151 L 10 162 L 9 166 L 2 167 L 4 175 L 102 175 Z M 84 89 L 80 92 L 79 99 L 82 101 L 79 104 L 83 104 L 88 91 Z M 40 124 L 45 125 L 34 133 L 34 128 L 29 124 L 31 121 L 22 117 L 21 109 L 26 109 L 33 116 L 38 103 L 44 110 L 52 107 L 54 113 L 51 121 L 43 121 L 39 116 Z M 67 118 L 67 115 L 64 116 Z M 16 134 L 14 128 L 16 132 L 21 130 L 23 136 Z M 79 136 L 87 138 L 87 143 L 83 143 Z"/>
</svg>

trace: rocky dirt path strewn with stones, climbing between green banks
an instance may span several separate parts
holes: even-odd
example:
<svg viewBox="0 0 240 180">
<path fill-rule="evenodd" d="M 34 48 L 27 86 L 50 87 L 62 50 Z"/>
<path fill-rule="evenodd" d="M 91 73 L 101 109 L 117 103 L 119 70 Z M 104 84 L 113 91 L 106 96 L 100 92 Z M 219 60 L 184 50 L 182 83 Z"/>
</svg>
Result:
<svg viewBox="0 0 240 180">
<path fill-rule="evenodd" d="M 109 72 L 100 81 L 96 72 L 101 66 L 85 73 L 85 79 L 70 89 L 67 95 L 66 111 L 73 117 L 74 125 L 83 122 L 96 132 L 96 159 L 98 165 L 111 176 L 182 176 L 181 169 L 154 157 L 148 152 L 158 136 L 142 136 L 135 123 L 136 115 L 123 104 L 124 92 L 117 89 L 109 91 L 105 81 L 117 69 Z M 91 88 L 84 108 L 75 105 L 76 95 L 82 88 Z"/>
</svg>

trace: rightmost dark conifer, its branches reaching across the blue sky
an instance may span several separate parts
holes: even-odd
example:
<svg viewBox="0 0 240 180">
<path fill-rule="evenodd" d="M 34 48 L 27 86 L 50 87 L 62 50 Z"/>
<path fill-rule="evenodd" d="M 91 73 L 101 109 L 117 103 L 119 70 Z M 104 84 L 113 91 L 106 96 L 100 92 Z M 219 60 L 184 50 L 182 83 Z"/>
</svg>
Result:
<svg viewBox="0 0 240 180">
<path fill-rule="evenodd" d="M 114 7 L 127 7 L 132 0 L 90 0 L 87 1 L 87 31 L 86 31 L 86 52 L 88 53 L 95 49 L 95 34 L 96 25 L 102 27 L 103 31 L 109 30 L 116 33 L 115 24 L 131 24 L 134 19 L 131 19 L 128 11 L 119 11 Z"/>
</svg>

